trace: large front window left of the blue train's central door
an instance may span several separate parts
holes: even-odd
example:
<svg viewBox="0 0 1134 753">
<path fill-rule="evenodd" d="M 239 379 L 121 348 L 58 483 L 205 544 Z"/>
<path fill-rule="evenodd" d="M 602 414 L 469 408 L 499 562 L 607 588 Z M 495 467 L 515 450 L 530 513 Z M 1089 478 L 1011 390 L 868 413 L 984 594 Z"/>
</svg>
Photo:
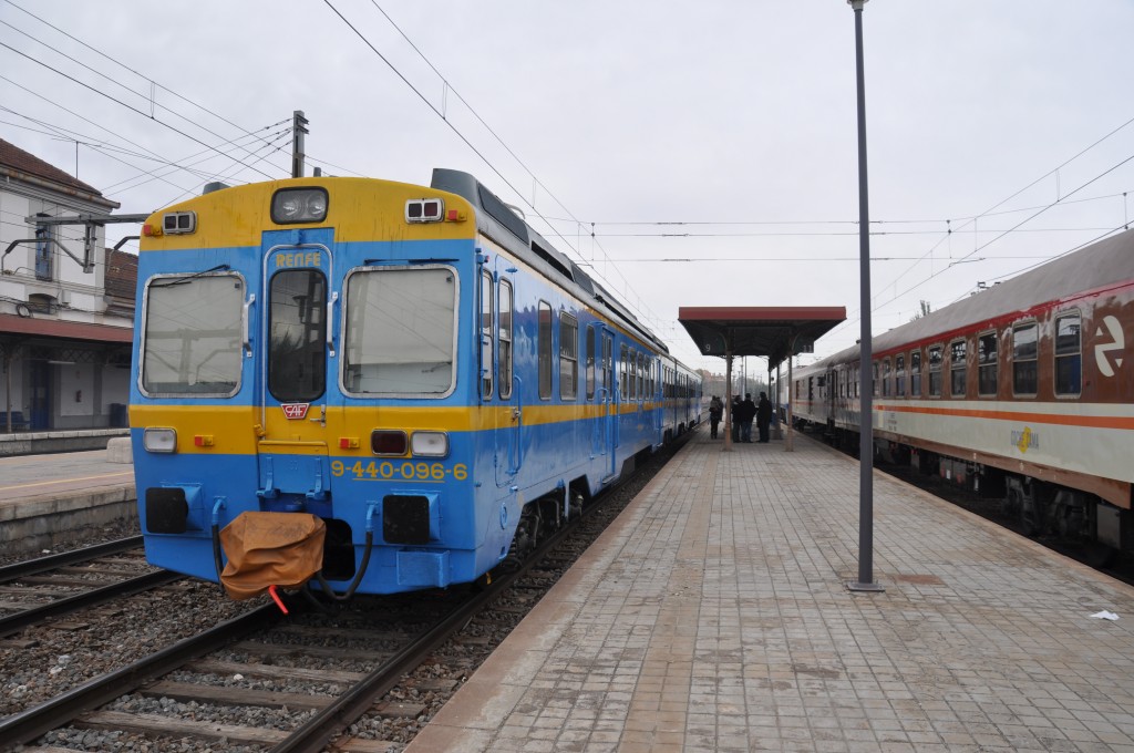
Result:
<svg viewBox="0 0 1134 753">
<path fill-rule="evenodd" d="M 142 389 L 231 395 L 240 383 L 244 281 L 235 274 L 155 278 L 146 288 Z"/>
</svg>

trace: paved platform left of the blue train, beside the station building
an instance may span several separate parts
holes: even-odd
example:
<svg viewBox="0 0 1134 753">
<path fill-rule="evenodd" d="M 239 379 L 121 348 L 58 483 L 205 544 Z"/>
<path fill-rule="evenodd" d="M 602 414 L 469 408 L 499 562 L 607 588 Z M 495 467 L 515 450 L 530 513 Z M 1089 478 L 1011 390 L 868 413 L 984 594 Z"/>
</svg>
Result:
<svg viewBox="0 0 1134 753">
<path fill-rule="evenodd" d="M 136 515 L 134 466 L 115 449 L 0 457 L 5 553 L 50 549 L 61 533 Z"/>
</svg>

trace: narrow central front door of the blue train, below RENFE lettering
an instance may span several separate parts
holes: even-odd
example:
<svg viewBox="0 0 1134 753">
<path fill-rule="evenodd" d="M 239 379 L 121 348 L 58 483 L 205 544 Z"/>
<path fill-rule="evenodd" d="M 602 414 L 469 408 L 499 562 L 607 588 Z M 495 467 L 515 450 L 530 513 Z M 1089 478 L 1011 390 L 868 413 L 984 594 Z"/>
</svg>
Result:
<svg viewBox="0 0 1134 753">
<path fill-rule="evenodd" d="M 263 301 L 255 305 L 262 306 L 256 494 L 265 509 L 318 514 L 328 497 L 328 374 L 337 346 L 330 327 L 337 302 L 329 285 L 331 234 L 264 234 Z M 273 244 L 280 235 L 327 243 Z"/>
</svg>

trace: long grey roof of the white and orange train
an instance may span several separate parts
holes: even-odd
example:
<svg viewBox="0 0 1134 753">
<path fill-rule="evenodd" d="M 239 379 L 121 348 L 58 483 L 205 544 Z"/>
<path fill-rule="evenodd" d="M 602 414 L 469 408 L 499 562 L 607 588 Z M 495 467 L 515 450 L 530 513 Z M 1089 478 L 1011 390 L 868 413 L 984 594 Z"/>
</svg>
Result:
<svg viewBox="0 0 1134 753">
<path fill-rule="evenodd" d="M 1038 305 L 1070 301 L 1090 290 L 1131 280 L 1134 280 L 1134 230 L 1126 230 L 877 335 L 872 349 L 881 353 L 1002 316 L 1024 316 Z M 829 357 L 843 359 L 857 352 L 855 345 Z"/>
</svg>

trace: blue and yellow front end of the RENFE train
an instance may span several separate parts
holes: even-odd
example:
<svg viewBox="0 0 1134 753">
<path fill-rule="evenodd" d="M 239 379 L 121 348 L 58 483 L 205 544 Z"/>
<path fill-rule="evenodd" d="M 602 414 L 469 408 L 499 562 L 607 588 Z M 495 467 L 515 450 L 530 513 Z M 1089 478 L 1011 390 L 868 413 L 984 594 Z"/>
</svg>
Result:
<svg viewBox="0 0 1134 753">
<path fill-rule="evenodd" d="M 149 560 L 234 598 L 490 569 L 515 526 L 477 504 L 476 238 L 459 196 L 369 179 L 151 217 L 130 397 Z"/>
</svg>

